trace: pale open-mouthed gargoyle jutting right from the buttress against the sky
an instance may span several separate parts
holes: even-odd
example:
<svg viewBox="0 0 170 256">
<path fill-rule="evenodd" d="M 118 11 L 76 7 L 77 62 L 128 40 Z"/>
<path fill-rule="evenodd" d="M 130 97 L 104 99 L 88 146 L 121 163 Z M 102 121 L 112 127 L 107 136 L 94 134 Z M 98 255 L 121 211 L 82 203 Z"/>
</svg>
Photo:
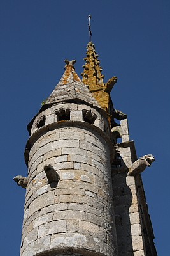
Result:
<svg viewBox="0 0 170 256">
<path fill-rule="evenodd" d="M 129 173 L 127 173 L 127 175 L 136 176 L 140 174 L 145 170 L 147 166 L 150 167 L 152 162 L 154 161 L 155 161 L 155 158 L 152 154 L 139 157 L 138 160 L 132 163 L 131 167 L 129 168 Z"/>
</svg>

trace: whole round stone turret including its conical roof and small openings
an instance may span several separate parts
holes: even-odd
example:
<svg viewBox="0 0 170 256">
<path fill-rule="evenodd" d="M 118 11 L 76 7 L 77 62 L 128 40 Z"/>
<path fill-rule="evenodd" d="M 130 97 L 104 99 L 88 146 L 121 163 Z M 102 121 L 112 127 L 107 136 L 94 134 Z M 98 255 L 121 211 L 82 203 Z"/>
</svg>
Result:
<svg viewBox="0 0 170 256">
<path fill-rule="evenodd" d="M 21 256 L 117 256 L 110 127 L 77 77 L 68 65 L 29 125 Z"/>
</svg>

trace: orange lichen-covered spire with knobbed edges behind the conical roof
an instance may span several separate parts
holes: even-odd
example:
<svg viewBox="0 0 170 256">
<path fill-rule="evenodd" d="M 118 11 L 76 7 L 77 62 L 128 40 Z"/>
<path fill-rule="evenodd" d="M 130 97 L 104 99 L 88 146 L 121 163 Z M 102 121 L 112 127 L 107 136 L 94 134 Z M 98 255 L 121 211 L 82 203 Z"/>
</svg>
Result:
<svg viewBox="0 0 170 256">
<path fill-rule="evenodd" d="M 99 55 L 95 51 L 95 46 L 92 42 L 87 44 L 87 52 L 84 58 L 85 65 L 83 65 L 84 71 L 81 73 L 83 76 L 82 81 L 84 84 L 88 84 L 90 92 L 104 87 L 104 75 L 101 74 L 102 67 L 100 66 Z"/>
</svg>

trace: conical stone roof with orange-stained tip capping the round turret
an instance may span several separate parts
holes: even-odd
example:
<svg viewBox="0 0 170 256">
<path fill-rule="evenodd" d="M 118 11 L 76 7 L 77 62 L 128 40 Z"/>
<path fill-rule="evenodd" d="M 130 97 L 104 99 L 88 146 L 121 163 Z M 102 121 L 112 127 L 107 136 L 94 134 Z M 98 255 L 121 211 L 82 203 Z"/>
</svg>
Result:
<svg viewBox="0 0 170 256">
<path fill-rule="evenodd" d="M 67 64 L 65 66 L 66 71 L 46 100 L 45 105 L 74 100 L 76 102 L 84 101 L 87 104 L 101 108 L 97 100 L 92 96 L 92 93 L 90 93 L 89 89 L 78 77 L 78 74 L 76 74 L 73 66 L 75 61 L 66 60 L 65 62 Z"/>
</svg>

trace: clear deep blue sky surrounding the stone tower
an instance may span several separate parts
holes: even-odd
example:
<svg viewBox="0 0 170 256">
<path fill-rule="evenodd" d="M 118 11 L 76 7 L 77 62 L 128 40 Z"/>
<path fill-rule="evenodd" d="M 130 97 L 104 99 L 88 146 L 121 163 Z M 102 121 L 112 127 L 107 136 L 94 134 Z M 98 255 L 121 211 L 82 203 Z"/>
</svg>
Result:
<svg viewBox="0 0 170 256">
<path fill-rule="evenodd" d="M 127 113 L 139 156 L 156 161 L 142 174 L 158 255 L 169 253 L 169 0 L 1 0 L 1 255 L 19 255 L 27 175 L 27 124 L 76 59 L 83 72 L 92 14 L 92 42 L 116 109 Z M 5 177 L 4 177 L 5 176 Z"/>
</svg>

